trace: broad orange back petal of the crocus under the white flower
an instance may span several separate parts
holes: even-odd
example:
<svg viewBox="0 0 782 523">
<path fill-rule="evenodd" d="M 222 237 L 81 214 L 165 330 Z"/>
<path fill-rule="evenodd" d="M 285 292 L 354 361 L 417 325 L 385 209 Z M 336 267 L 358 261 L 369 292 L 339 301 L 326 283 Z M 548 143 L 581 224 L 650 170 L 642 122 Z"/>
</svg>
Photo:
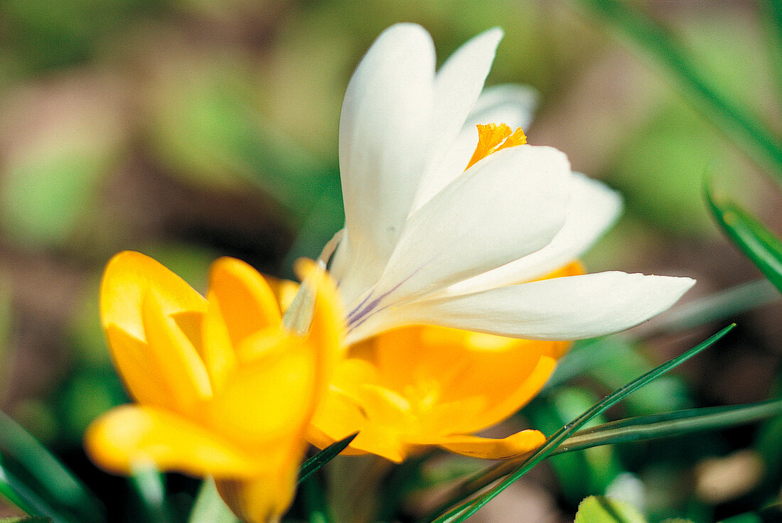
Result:
<svg viewBox="0 0 782 523">
<path fill-rule="evenodd" d="M 477 432 L 523 407 L 554 371 L 551 353 L 558 352 L 562 343 L 430 325 L 398 328 L 371 341 L 382 385 L 404 390 L 436 383 L 440 404 L 483 405 L 479 410 L 465 410 L 460 417 L 438 416 L 437 422 L 443 424 L 439 431 L 427 424 L 441 434 Z"/>
</svg>

